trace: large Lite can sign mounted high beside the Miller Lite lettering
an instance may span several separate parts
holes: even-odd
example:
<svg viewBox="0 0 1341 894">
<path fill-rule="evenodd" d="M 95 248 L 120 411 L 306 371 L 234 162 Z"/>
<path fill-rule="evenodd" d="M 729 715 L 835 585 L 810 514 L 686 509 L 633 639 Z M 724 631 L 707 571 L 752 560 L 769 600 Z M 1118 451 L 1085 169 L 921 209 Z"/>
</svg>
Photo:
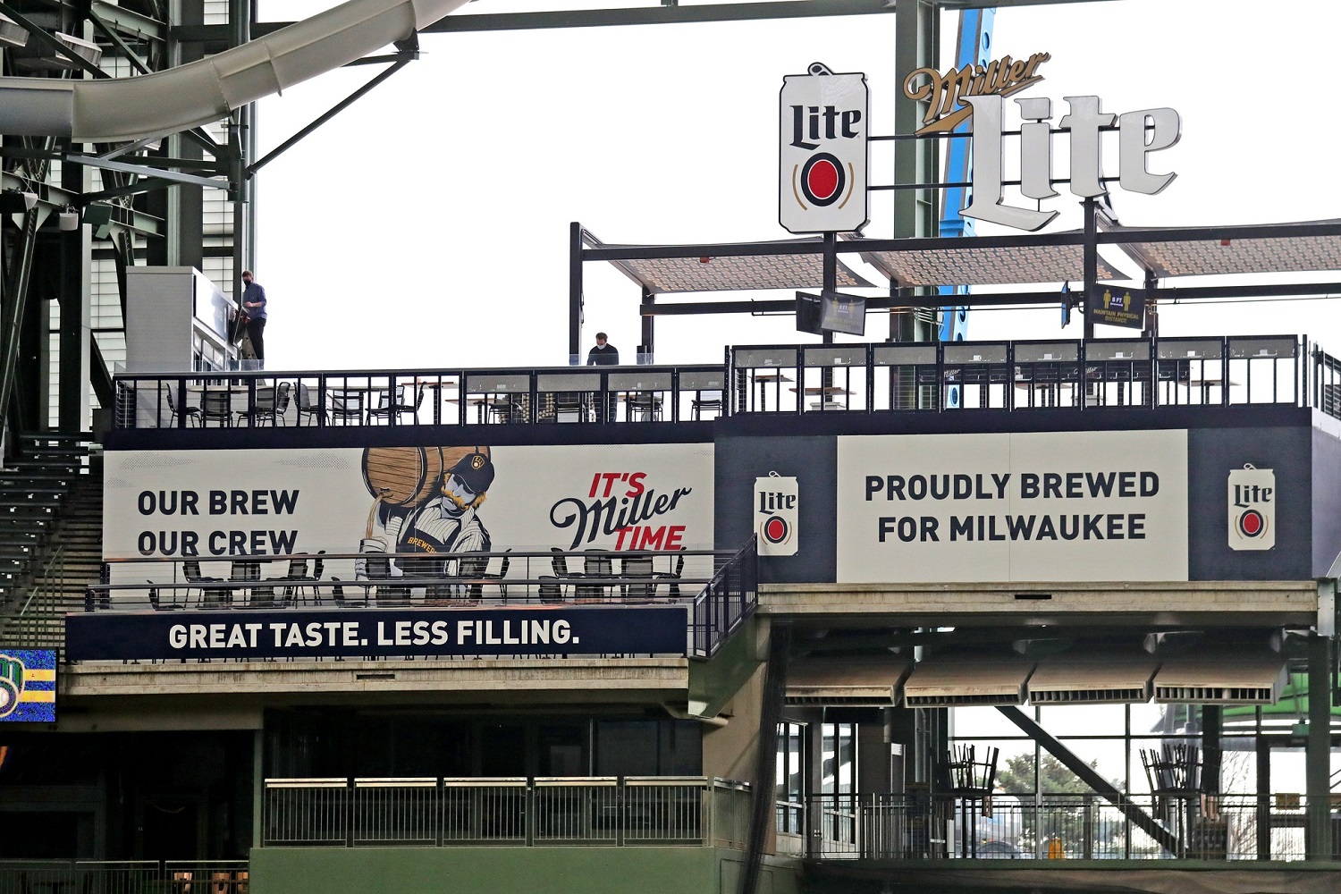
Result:
<svg viewBox="0 0 1341 894">
<path fill-rule="evenodd" d="M 778 222 L 791 233 L 853 232 L 866 224 L 870 91 L 862 72 L 823 63 L 782 80 Z"/>
</svg>

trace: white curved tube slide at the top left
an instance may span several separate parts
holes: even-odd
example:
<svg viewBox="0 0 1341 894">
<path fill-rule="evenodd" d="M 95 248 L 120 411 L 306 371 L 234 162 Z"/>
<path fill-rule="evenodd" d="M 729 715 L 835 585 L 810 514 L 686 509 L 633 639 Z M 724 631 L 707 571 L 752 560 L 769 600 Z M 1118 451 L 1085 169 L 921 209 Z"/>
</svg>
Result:
<svg viewBox="0 0 1341 894">
<path fill-rule="evenodd" d="M 409 38 L 467 0 L 349 0 L 208 59 L 133 78 L 0 78 L 0 134 L 122 142 L 219 121 Z"/>
</svg>

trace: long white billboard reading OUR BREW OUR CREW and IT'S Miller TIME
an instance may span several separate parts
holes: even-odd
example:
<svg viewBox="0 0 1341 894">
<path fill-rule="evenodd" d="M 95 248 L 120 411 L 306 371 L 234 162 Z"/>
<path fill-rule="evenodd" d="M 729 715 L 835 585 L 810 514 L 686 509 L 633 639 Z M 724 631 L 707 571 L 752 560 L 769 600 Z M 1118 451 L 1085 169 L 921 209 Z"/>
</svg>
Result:
<svg viewBox="0 0 1341 894">
<path fill-rule="evenodd" d="M 711 444 L 113 450 L 105 558 L 712 548 Z"/>
</svg>

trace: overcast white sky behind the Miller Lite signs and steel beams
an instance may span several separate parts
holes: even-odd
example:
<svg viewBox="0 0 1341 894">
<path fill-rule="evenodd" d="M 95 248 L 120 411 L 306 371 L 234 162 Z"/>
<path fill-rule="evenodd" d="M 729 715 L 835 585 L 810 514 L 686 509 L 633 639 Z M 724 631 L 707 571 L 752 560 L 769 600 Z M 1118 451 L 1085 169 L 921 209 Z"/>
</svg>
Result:
<svg viewBox="0 0 1341 894">
<path fill-rule="evenodd" d="M 271 0 L 261 17 L 325 5 Z M 457 15 L 527 7 L 561 8 L 479 0 Z M 947 13 L 941 68 L 956 28 Z M 1336 0 L 1270 12 L 1247 0 L 1110 0 L 1000 9 L 994 55 L 1050 52 L 1046 79 L 1025 95 L 1053 98 L 1058 117 L 1066 95 L 1098 95 L 1113 113 L 1181 114 L 1181 142 L 1152 162 L 1177 180 L 1155 197 L 1114 192 L 1124 224 L 1277 222 L 1341 217 L 1328 62 L 1338 34 Z M 786 237 L 776 222 L 783 75 L 815 60 L 865 71 L 872 133 L 889 134 L 907 74 L 894 71 L 893 46 L 893 15 L 424 35 L 420 60 L 259 176 L 267 366 L 566 362 L 570 221 L 607 243 Z M 331 72 L 261 102 L 261 151 L 374 72 Z M 888 184 L 892 154 L 876 146 L 872 182 Z M 1106 157 L 1116 165 L 1116 151 Z M 1050 200 L 1062 212 L 1050 229 L 1077 227 L 1077 202 Z M 889 193 L 874 194 L 866 233 L 892 233 Z M 583 346 L 602 328 L 632 351 L 637 304 L 633 283 L 589 264 Z M 1167 307 L 1161 320 L 1164 334 L 1306 332 L 1341 350 L 1333 300 Z M 886 331 L 884 318 L 868 319 L 868 339 Z M 1055 310 L 970 318 L 974 339 L 1061 334 Z M 1066 335 L 1078 338 L 1080 326 Z M 798 340 L 815 336 L 795 332 L 791 318 L 657 320 L 658 362 Z"/>
</svg>

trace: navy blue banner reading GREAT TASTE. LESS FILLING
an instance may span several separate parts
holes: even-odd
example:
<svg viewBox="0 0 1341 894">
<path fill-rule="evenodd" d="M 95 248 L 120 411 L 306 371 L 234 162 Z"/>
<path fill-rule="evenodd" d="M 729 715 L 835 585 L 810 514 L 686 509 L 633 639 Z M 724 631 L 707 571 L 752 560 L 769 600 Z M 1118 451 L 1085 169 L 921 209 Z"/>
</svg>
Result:
<svg viewBox="0 0 1341 894">
<path fill-rule="evenodd" d="M 410 655 L 684 655 L 684 606 L 97 613 L 66 618 L 71 661 Z"/>
</svg>

